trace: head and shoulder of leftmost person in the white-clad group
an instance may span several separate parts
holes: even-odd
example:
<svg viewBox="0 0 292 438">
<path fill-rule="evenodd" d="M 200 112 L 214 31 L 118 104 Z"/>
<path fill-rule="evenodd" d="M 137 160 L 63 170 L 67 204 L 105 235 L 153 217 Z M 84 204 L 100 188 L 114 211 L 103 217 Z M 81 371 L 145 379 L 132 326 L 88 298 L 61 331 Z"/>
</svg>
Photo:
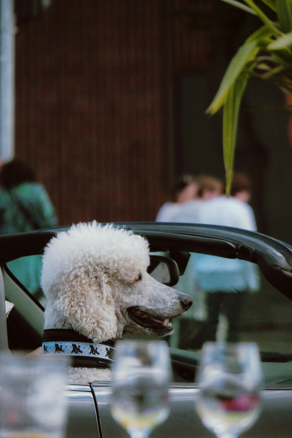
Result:
<svg viewBox="0 0 292 438">
<path fill-rule="evenodd" d="M 197 196 L 197 180 L 192 175 L 180 176 L 173 187 L 172 199 L 159 209 L 156 222 L 174 222 L 173 218 L 180 207 Z"/>
</svg>

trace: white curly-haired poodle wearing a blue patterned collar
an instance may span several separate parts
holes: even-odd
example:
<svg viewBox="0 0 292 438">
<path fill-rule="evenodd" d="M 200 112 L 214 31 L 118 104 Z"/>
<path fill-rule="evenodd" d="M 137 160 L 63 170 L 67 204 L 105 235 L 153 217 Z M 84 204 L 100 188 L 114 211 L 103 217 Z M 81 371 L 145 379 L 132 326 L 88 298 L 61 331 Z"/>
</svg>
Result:
<svg viewBox="0 0 292 438">
<path fill-rule="evenodd" d="M 58 233 L 46 246 L 42 354 L 73 356 L 71 381 L 110 379 L 113 339 L 125 332 L 168 335 L 169 319 L 190 307 L 190 297 L 148 274 L 149 261 L 145 238 L 95 221 Z"/>
</svg>

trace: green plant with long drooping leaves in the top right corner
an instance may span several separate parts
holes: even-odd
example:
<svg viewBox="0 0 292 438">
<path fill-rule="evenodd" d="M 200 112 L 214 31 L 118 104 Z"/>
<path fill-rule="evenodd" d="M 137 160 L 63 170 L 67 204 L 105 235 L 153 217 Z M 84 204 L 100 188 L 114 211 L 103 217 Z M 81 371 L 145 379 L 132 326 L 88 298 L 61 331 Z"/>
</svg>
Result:
<svg viewBox="0 0 292 438">
<path fill-rule="evenodd" d="M 238 0 L 222 0 L 243 8 Z M 264 23 L 250 35 L 232 58 L 218 91 L 206 113 L 215 114 L 223 106 L 223 158 L 226 194 L 232 184 L 239 109 L 248 79 L 269 81 L 292 95 L 292 0 L 261 0 L 277 14 L 277 22 L 261 11 L 254 0 L 243 0 L 247 12 L 253 10 Z"/>
</svg>

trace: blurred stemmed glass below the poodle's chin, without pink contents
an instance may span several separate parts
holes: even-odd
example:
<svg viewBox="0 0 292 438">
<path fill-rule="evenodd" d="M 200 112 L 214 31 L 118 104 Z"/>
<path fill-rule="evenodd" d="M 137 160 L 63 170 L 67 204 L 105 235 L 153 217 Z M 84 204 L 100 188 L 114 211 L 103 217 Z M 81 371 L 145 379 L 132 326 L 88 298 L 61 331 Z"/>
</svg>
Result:
<svg viewBox="0 0 292 438">
<path fill-rule="evenodd" d="M 118 341 L 111 413 L 131 438 L 147 438 L 169 415 L 169 348 L 164 341 Z"/>
</svg>

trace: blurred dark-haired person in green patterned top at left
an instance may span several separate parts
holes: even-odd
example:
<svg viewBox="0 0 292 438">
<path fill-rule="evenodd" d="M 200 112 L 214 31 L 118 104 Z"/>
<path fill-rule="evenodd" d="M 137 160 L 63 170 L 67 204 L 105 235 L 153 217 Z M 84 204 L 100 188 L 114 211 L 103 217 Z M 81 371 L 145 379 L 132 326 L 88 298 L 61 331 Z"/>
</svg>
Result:
<svg viewBox="0 0 292 438">
<path fill-rule="evenodd" d="M 56 214 L 45 187 L 37 182 L 32 166 L 12 159 L 0 168 L 0 234 L 21 233 L 56 226 Z M 7 263 L 29 292 L 41 293 L 40 255 Z"/>
</svg>

